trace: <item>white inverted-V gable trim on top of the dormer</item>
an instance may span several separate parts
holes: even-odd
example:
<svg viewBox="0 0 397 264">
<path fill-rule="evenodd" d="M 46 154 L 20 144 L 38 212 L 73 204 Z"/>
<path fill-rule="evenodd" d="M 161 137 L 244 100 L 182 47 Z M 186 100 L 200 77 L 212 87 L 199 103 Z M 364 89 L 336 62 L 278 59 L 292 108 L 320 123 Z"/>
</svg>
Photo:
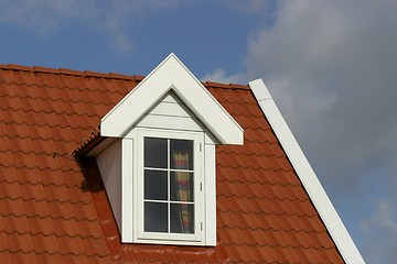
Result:
<svg viewBox="0 0 397 264">
<path fill-rule="evenodd" d="M 101 135 L 124 138 L 169 90 L 178 95 L 221 144 L 243 144 L 242 127 L 174 54 L 170 54 L 101 119 Z"/>
</svg>

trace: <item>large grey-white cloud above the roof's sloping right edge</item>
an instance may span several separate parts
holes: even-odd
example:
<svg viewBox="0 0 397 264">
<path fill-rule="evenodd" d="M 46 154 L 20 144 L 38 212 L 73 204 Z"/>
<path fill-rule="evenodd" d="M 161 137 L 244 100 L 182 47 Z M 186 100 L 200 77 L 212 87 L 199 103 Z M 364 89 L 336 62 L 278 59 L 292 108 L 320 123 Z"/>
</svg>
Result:
<svg viewBox="0 0 397 264">
<path fill-rule="evenodd" d="M 247 75 L 265 78 L 308 154 L 345 191 L 397 157 L 396 11 L 395 1 L 279 1 L 272 28 L 249 37 Z"/>
</svg>

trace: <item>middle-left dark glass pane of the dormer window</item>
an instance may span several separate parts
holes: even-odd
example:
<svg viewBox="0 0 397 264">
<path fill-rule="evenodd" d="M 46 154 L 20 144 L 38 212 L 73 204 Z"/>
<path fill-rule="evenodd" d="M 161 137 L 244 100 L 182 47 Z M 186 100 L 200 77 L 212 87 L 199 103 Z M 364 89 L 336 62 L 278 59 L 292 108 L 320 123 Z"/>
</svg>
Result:
<svg viewBox="0 0 397 264">
<path fill-rule="evenodd" d="M 144 169 L 144 199 L 168 200 L 167 172 Z"/>
</svg>

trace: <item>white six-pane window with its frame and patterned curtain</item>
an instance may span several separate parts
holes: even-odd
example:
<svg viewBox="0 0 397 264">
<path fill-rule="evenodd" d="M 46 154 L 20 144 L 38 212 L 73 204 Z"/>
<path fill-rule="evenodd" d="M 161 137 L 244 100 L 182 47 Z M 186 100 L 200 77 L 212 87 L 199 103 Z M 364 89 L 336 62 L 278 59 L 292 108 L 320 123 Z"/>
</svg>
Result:
<svg viewBox="0 0 397 264">
<path fill-rule="evenodd" d="M 202 241 L 203 132 L 139 129 L 138 239 Z"/>
</svg>

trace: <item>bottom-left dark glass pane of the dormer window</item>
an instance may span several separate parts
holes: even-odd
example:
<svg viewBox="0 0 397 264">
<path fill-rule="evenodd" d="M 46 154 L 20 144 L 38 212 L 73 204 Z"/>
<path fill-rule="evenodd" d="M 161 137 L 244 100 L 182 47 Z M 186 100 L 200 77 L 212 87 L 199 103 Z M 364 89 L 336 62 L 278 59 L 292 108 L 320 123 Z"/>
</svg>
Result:
<svg viewBox="0 0 397 264">
<path fill-rule="evenodd" d="M 144 202 L 144 231 L 168 232 L 168 204 Z"/>
</svg>

